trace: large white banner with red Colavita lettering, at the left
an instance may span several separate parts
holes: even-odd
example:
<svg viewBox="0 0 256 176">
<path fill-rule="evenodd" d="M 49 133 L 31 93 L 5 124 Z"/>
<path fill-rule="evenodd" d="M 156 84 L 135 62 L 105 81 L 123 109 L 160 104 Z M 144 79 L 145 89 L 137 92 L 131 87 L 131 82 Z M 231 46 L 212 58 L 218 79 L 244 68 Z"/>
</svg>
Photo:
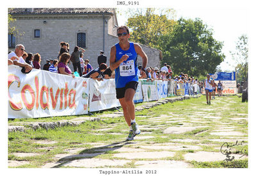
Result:
<svg viewBox="0 0 256 176">
<path fill-rule="evenodd" d="M 88 113 L 88 80 L 33 69 L 23 74 L 8 66 L 8 118 L 82 115 Z"/>
</svg>

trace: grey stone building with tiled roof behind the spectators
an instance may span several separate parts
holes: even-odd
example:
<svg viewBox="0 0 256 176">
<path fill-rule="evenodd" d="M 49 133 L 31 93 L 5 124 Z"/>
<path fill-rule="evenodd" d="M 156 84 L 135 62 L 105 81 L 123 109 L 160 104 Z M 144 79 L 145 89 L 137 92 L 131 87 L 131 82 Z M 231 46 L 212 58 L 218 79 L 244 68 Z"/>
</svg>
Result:
<svg viewBox="0 0 256 176">
<path fill-rule="evenodd" d="M 8 49 L 23 44 L 26 52 L 38 52 L 41 66 L 49 58 L 56 59 L 60 42 L 70 44 L 70 53 L 78 45 L 86 49 L 84 60 L 97 67 L 100 50 L 108 57 L 110 48 L 118 42 L 118 22 L 114 8 L 10 8 L 8 13 L 15 18 L 18 35 L 8 35 Z M 141 45 L 148 56 L 148 67 L 159 67 L 161 51 Z M 138 58 L 138 64 L 142 60 Z M 70 65 L 72 68 L 72 65 Z"/>
</svg>

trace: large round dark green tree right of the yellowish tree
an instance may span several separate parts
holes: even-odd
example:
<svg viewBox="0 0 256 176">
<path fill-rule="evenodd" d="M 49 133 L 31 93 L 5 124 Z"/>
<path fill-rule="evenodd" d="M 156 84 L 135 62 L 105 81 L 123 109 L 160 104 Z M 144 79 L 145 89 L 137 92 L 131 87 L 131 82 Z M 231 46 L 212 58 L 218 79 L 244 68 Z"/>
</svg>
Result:
<svg viewBox="0 0 256 176">
<path fill-rule="evenodd" d="M 221 53 L 223 42 L 216 41 L 212 29 L 200 19 L 179 19 L 173 30 L 159 38 L 159 49 L 163 52 L 163 63 L 169 63 L 173 72 L 185 72 L 200 76 L 216 71 L 224 60 Z"/>
</svg>

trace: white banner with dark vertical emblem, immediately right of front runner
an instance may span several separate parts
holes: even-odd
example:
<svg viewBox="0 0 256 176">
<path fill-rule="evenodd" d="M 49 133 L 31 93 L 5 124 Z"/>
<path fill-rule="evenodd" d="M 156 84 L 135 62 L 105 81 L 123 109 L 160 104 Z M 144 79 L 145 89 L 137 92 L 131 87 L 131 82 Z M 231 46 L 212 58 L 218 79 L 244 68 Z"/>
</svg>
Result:
<svg viewBox="0 0 256 176">
<path fill-rule="evenodd" d="M 159 99 L 156 81 L 147 81 L 147 79 L 141 79 L 141 87 L 144 102 Z"/>
</svg>

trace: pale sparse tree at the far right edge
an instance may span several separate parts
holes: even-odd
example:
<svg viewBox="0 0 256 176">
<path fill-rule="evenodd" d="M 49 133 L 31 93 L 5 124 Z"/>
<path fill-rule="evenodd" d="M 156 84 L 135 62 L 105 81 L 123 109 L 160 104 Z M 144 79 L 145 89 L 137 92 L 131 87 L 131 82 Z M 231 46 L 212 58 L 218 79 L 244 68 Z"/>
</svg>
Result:
<svg viewBox="0 0 256 176">
<path fill-rule="evenodd" d="M 236 43 L 236 51 L 230 51 L 230 54 L 237 64 L 237 82 L 241 83 L 241 81 L 248 81 L 248 36 L 240 36 Z"/>
</svg>

